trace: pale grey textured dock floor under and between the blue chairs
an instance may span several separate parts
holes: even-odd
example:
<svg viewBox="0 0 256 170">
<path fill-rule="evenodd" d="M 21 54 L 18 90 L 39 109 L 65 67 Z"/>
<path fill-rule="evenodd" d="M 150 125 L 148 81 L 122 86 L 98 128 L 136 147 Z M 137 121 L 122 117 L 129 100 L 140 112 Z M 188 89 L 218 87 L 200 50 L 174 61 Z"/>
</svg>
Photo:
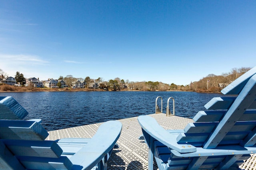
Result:
<svg viewBox="0 0 256 170">
<path fill-rule="evenodd" d="M 192 119 L 184 117 L 166 117 L 163 113 L 150 114 L 149 116 L 154 117 L 164 129 L 184 129 L 188 123 L 193 122 Z M 137 117 L 118 121 L 123 125 L 122 133 L 117 141 L 119 148 L 113 150 L 108 160 L 108 170 L 148 170 L 148 147 L 143 140 L 138 139 L 142 135 L 142 131 Z M 102 123 L 49 131 L 46 140 L 70 137 L 92 138 L 100 124 Z M 252 154 L 251 158 L 246 160 L 240 168 L 244 170 L 256 169 L 256 155 Z M 154 169 L 158 169 L 156 165 L 154 165 Z"/>
</svg>

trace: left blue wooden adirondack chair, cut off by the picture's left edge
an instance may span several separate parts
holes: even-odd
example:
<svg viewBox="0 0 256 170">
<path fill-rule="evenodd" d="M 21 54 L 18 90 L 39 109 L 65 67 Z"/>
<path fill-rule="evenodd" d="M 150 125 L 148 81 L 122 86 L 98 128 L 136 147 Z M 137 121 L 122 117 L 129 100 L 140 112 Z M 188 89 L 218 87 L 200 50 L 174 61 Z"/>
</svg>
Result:
<svg viewBox="0 0 256 170">
<path fill-rule="evenodd" d="M 28 112 L 12 97 L 0 97 L 0 169 L 106 170 L 122 123 L 107 121 L 92 139 L 45 141 L 40 119 L 23 119 Z M 11 120 L 10 120 L 11 119 Z"/>
</svg>

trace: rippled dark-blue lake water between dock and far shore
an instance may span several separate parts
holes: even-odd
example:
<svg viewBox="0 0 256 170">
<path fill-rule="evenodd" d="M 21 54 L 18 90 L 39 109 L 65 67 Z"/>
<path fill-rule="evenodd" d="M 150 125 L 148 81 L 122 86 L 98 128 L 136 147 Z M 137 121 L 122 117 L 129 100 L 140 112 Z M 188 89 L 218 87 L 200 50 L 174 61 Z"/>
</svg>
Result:
<svg viewBox="0 0 256 170">
<path fill-rule="evenodd" d="M 169 97 L 175 99 L 175 115 L 193 118 L 213 97 L 196 92 L 0 92 L 12 96 L 27 111 L 25 119 L 42 119 L 47 131 L 155 113 L 158 96 L 166 112 Z M 158 106 L 161 100 L 158 99 Z M 172 112 L 172 100 L 169 103 Z"/>
</svg>

